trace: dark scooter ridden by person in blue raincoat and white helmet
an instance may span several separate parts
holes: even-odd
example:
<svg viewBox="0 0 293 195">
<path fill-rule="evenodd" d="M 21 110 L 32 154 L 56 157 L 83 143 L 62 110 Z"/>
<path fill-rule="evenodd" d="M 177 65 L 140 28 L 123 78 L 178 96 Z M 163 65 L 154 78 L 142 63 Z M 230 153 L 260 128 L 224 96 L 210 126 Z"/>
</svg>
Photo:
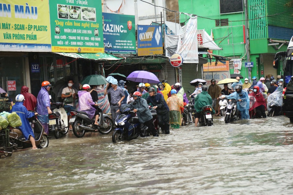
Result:
<svg viewBox="0 0 293 195">
<path fill-rule="evenodd" d="M 28 119 L 31 128 L 34 132 L 34 139 L 36 146 L 38 148 L 45 148 L 49 146 L 49 139 L 48 135 L 45 133 L 44 128 L 40 121 L 37 119 L 36 116 L 31 117 Z M 9 128 L 9 138 L 10 143 L 12 144 L 12 147 L 14 150 L 18 149 L 25 149 L 32 147 L 30 140 L 25 140 L 23 133 L 18 129 L 17 127 L 10 127 Z"/>
</svg>

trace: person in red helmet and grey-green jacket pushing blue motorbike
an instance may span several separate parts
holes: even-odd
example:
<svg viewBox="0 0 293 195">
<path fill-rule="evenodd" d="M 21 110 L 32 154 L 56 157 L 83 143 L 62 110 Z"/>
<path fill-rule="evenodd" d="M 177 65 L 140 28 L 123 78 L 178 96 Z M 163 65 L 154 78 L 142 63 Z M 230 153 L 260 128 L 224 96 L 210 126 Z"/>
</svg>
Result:
<svg viewBox="0 0 293 195">
<path fill-rule="evenodd" d="M 153 116 L 150 112 L 149 106 L 147 105 L 147 101 L 143 98 L 141 98 L 141 93 L 139 91 L 136 91 L 132 94 L 132 97 L 134 101 L 130 102 L 125 107 L 127 108 L 133 108 L 133 112 L 136 112 L 138 120 L 141 124 L 140 130 L 141 130 L 141 136 L 146 136 L 146 132 L 144 130 L 146 129 L 145 126 L 148 127 L 150 132 L 153 134 L 154 137 L 158 137 L 159 134 L 155 128 Z"/>
</svg>

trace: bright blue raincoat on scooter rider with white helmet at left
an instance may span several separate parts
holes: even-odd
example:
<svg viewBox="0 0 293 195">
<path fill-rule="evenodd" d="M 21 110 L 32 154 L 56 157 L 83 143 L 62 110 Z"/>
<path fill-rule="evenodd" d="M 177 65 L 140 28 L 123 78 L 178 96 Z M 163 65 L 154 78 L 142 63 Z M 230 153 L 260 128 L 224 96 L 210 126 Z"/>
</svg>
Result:
<svg viewBox="0 0 293 195">
<path fill-rule="evenodd" d="M 22 125 L 19 127 L 21 132 L 24 134 L 25 140 L 28 140 L 30 135 L 34 138 L 34 132 L 31 128 L 30 122 L 27 120 L 34 116 L 33 112 L 28 112 L 27 108 L 24 107 L 24 102 L 16 102 L 15 105 L 12 107 L 10 113 L 15 112 L 19 115 Z"/>
</svg>

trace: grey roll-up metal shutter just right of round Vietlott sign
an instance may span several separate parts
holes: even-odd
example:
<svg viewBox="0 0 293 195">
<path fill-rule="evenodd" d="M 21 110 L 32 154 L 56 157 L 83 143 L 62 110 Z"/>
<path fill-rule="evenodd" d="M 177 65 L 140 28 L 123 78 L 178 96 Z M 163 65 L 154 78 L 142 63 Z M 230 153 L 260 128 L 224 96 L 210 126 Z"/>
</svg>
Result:
<svg viewBox="0 0 293 195">
<path fill-rule="evenodd" d="M 187 91 L 190 90 L 190 92 L 194 92 L 195 87 L 190 85 L 190 81 L 194 79 L 202 79 L 201 76 L 201 67 L 202 64 L 198 64 L 198 71 L 197 70 L 197 64 L 183 64 L 180 66 L 182 68 L 182 87 L 184 88 L 184 91 L 186 95 L 188 96 Z"/>
</svg>

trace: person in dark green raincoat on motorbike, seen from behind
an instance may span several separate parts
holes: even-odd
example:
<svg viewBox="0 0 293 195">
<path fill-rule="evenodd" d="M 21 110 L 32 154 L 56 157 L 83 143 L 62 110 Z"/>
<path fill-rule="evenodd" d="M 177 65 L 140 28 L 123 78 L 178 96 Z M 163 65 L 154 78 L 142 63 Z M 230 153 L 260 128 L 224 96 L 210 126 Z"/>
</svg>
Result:
<svg viewBox="0 0 293 195">
<path fill-rule="evenodd" d="M 196 127 L 197 127 L 197 123 L 199 121 L 199 117 L 201 114 L 201 109 L 207 105 L 212 106 L 212 103 L 213 103 L 212 97 L 208 94 L 208 87 L 203 86 L 202 92 L 200 94 L 198 94 L 196 96 L 196 98 L 194 99 L 194 108 L 196 110 L 194 118 L 195 118 L 195 126 Z M 212 114 L 215 114 L 214 108 L 212 108 Z"/>
</svg>

